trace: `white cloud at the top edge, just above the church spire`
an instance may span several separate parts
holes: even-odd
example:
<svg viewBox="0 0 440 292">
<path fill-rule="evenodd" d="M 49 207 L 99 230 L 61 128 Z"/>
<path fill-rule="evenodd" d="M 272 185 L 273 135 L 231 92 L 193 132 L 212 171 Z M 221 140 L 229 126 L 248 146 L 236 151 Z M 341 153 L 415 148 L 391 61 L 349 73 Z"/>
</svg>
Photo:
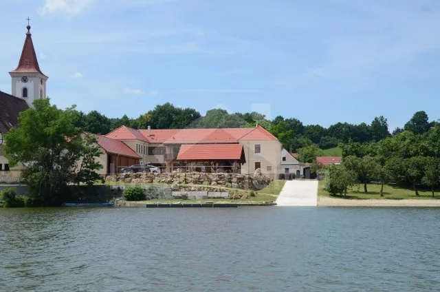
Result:
<svg viewBox="0 0 440 292">
<path fill-rule="evenodd" d="M 39 12 L 42 15 L 50 13 L 80 14 L 91 6 L 94 0 L 45 0 Z"/>
</svg>

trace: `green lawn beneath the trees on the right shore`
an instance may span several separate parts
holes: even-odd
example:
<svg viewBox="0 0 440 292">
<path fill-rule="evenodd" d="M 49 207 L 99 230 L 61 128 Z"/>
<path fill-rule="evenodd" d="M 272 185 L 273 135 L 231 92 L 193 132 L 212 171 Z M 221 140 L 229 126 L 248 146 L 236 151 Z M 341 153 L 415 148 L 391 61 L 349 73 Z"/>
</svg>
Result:
<svg viewBox="0 0 440 292">
<path fill-rule="evenodd" d="M 364 185 L 358 185 L 353 187 L 348 193 L 347 197 L 344 196 L 331 196 L 324 189 L 325 182 L 320 181 L 318 187 L 318 196 L 328 196 L 331 198 L 347 198 L 347 199 L 355 199 L 355 200 L 369 200 L 369 199 L 377 199 L 377 200 L 404 200 L 404 199 L 415 199 L 415 200 L 423 200 L 423 199 L 431 199 L 432 193 L 430 191 L 419 191 L 420 196 L 415 196 L 415 192 L 412 189 L 403 189 L 401 187 L 393 186 L 393 185 L 385 185 L 384 186 L 384 196 L 380 196 L 380 185 L 371 185 L 367 186 L 368 193 L 364 193 Z M 440 200 L 440 192 L 435 194 L 434 199 Z"/>
</svg>

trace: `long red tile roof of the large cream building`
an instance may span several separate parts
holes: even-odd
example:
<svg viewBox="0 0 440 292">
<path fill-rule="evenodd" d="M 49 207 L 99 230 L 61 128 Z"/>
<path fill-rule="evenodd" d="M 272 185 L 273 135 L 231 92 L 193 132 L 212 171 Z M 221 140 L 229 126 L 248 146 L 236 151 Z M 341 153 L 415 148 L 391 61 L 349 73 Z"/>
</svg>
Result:
<svg viewBox="0 0 440 292">
<path fill-rule="evenodd" d="M 223 129 L 131 129 L 122 126 L 106 135 L 118 140 L 144 140 L 149 143 L 201 144 L 237 143 L 239 140 L 277 140 L 263 127 Z"/>
</svg>

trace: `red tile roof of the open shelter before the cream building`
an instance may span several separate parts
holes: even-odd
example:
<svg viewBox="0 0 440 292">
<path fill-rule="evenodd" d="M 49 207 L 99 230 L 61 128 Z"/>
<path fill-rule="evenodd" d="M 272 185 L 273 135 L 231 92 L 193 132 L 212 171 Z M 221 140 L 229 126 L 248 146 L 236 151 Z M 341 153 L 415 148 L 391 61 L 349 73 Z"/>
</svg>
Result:
<svg viewBox="0 0 440 292">
<path fill-rule="evenodd" d="M 245 162 L 241 144 L 181 145 L 176 160 L 241 160 Z"/>
</svg>

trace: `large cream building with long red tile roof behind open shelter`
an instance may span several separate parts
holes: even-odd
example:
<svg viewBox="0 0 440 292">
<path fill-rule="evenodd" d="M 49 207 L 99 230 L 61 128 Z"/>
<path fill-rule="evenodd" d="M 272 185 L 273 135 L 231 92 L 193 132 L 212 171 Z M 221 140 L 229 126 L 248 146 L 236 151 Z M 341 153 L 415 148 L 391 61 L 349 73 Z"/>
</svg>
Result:
<svg viewBox="0 0 440 292">
<path fill-rule="evenodd" d="M 184 159 L 188 156 L 183 156 L 188 149 L 193 149 L 191 155 L 200 152 L 193 161 L 200 161 L 203 157 L 206 163 L 217 161 L 218 164 L 222 160 L 223 166 L 230 167 L 233 163 L 225 163 L 219 154 L 239 147 L 243 149 L 244 158 L 233 160 L 241 165 L 241 173 L 253 174 L 256 168 L 260 168 L 263 174 L 276 178 L 281 171 L 281 143 L 261 126 L 221 129 L 131 129 L 122 126 L 105 136 L 124 142 L 140 155 L 143 163 L 161 165 L 168 171 L 190 164 Z"/>
</svg>

